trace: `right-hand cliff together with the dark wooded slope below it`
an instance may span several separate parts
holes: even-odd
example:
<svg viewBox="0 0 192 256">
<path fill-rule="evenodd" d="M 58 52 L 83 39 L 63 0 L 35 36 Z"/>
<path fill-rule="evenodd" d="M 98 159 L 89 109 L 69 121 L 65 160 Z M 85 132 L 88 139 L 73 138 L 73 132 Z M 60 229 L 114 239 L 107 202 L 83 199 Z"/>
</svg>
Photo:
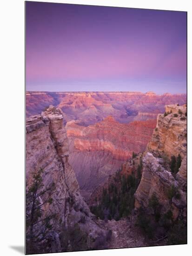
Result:
<svg viewBox="0 0 192 256">
<path fill-rule="evenodd" d="M 186 116 L 186 105 L 167 105 L 146 150 L 132 155 L 87 201 L 94 214 L 108 218 L 112 229 L 124 222 L 128 236 L 130 226 L 139 226 L 140 246 L 187 243 Z M 120 243 L 126 244 L 124 239 Z"/>
</svg>

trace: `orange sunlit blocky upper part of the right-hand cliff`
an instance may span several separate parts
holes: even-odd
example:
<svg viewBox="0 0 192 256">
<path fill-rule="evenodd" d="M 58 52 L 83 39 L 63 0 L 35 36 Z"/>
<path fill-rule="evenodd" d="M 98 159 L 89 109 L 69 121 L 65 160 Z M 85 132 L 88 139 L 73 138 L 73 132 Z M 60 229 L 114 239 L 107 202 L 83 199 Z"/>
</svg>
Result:
<svg viewBox="0 0 192 256">
<path fill-rule="evenodd" d="M 147 150 L 169 159 L 180 154 L 183 159 L 186 155 L 186 105 L 168 105 L 165 113 L 158 115 Z"/>
</svg>

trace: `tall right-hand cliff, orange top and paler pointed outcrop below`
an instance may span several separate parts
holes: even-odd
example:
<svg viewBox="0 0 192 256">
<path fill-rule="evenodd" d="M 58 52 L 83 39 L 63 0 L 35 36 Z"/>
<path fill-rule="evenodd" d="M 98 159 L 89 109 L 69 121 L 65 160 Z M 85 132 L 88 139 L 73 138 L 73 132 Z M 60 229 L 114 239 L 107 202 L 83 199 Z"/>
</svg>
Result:
<svg viewBox="0 0 192 256">
<path fill-rule="evenodd" d="M 172 211 L 174 219 L 186 218 L 186 106 L 168 105 L 157 119 L 143 157 L 142 178 L 135 193 L 135 207 L 148 208 L 155 195 L 161 213 Z M 172 156 L 181 156 L 177 175 L 171 172 Z"/>
</svg>

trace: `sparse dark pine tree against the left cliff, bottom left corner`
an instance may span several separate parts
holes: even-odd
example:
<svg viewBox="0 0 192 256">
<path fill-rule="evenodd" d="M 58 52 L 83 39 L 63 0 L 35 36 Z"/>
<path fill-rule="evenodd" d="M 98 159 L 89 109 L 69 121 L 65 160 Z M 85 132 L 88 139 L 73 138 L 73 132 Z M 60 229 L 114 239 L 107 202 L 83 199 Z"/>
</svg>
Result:
<svg viewBox="0 0 192 256">
<path fill-rule="evenodd" d="M 43 170 L 33 174 L 33 182 L 26 190 L 26 239 L 29 247 L 27 253 L 35 253 L 38 244 L 45 241 L 48 232 L 53 228 L 55 214 L 47 214 L 45 207 L 52 204 L 55 184 L 44 188 Z"/>
</svg>

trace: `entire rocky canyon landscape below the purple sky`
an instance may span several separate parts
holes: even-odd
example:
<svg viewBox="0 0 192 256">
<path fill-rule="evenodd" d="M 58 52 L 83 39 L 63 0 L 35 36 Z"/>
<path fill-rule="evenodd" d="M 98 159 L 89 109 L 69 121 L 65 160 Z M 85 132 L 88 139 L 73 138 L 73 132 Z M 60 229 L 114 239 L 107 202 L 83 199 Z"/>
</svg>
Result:
<svg viewBox="0 0 192 256">
<path fill-rule="evenodd" d="M 115 96 L 114 93 L 93 93 L 94 96 L 80 93 L 80 98 L 86 97 L 85 101 L 79 100 L 78 94 L 55 94 L 33 94 L 30 97 L 35 100 L 30 100 L 28 105 L 29 101 L 26 102 L 27 115 L 32 113 L 33 104 L 36 106 L 33 108 L 34 115 L 26 118 L 26 194 L 32 191 L 38 171 L 43 170 L 40 177 L 42 195 L 37 199 L 38 204 L 46 202 L 49 196 L 47 188 L 56 184 L 50 203 L 45 204 L 41 211 L 45 218 L 57 216 L 50 222 L 51 229 L 46 236 L 48 242 L 38 242 L 35 251 L 30 247 L 30 230 L 26 230 L 27 252 L 172 244 L 167 235 L 171 228 L 162 224 L 168 213 L 171 225 L 177 227 L 178 223 L 182 223 L 181 230 L 185 235 L 185 95 L 176 95 L 174 100 L 173 95 L 164 95 L 171 104 L 161 107 L 164 104 L 162 101 L 158 104 L 154 101 L 157 95 L 148 93 L 141 107 L 146 104 L 143 108 L 145 112 L 142 112 L 138 107 L 141 104 L 140 93 L 129 93 L 128 96 L 126 93 Z M 70 98 L 73 102 L 65 103 L 65 97 L 66 102 L 70 103 Z M 118 108 L 108 111 L 111 109 L 107 102 L 109 97 L 111 101 L 115 99 L 113 103 L 116 107 L 124 106 L 124 109 L 124 99 L 134 98 L 135 102 L 129 113 L 120 117 L 116 111 Z M 175 101 L 177 104 L 173 104 Z M 47 102 L 51 104 L 49 107 Z M 91 114 L 92 104 L 99 113 L 96 119 Z M 88 106 L 91 108 L 85 113 L 83 109 Z M 44 111 L 37 114 L 40 108 Z M 173 156 L 176 161 L 174 169 L 170 165 Z M 177 161 L 180 161 L 179 165 Z M 47 192 L 42 192 L 44 188 Z M 157 209 L 151 206 L 152 200 L 158 207 L 158 221 L 155 216 Z M 116 201 L 118 204 L 114 208 Z M 26 214 L 31 209 L 30 205 Z M 141 209 L 142 215 L 146 219 L 150 216 L 152 220 L 147 225 L 153 227 L 156 241 L 146 235 L 148 229 L 143 233 L 146 227 L 139 222 Z M 33 232 L 37 234 L 39 229 L 46 229 L 46 224 L 37 224 Z M 83 242 L 79 245 L 77 240 Z"/>
</svg>

